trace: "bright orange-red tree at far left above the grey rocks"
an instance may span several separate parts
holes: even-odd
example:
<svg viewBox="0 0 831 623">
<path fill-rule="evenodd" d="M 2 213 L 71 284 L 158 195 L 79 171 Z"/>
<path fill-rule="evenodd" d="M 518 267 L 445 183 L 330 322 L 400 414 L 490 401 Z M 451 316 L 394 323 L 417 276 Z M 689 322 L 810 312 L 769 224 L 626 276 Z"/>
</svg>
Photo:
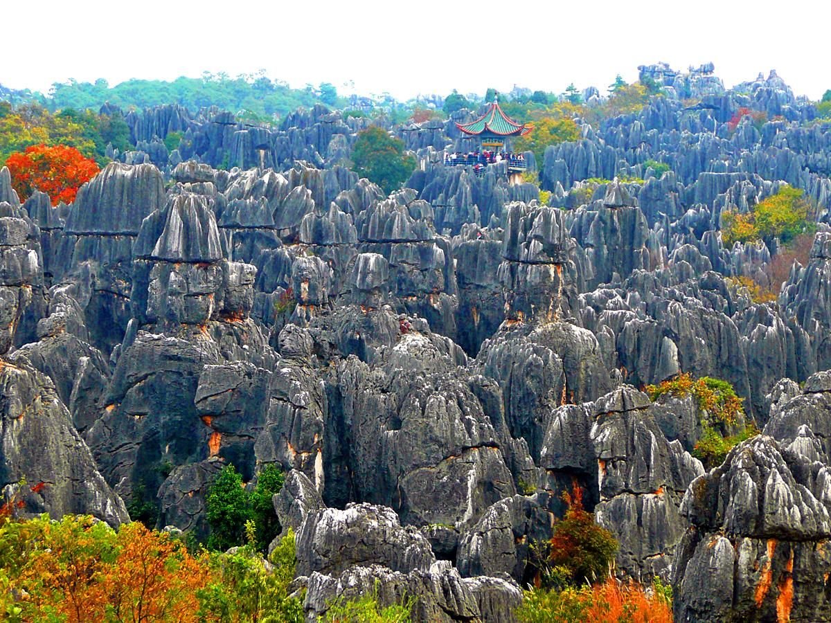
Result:
<svg viewBox="0 0 831 623">
<path fill-rule="evenodd" d="M 100 170 L 95 160 L 66 145 L 32 145 L 22 153 L 10 155 L 6 166 L 21 201 L 40 190 L 49 195 L 52 205 L 61 201 L 70 204 L 81 185 Z"/>
</svg>

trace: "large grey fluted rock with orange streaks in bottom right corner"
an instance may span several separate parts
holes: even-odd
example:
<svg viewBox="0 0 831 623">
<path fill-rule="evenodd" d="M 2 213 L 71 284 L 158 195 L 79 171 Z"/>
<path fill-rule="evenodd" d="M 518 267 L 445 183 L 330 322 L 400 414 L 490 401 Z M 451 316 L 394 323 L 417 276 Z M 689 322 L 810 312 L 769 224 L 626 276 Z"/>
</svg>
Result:
<svg viewBox="0 0 831 623">
<path fill-rule="evenodd" d="M 676 556 L 680 621 L 824 621 L 829 467 L 762 435 L 697 478 L 681 503 L 691 522 Z"/>
</svg>

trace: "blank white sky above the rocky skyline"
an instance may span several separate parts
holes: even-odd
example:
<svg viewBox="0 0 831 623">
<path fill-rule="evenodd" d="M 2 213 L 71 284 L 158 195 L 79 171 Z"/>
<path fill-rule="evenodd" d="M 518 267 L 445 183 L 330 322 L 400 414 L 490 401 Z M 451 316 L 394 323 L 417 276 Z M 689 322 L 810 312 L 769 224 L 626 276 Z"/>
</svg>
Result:
<svg viewBox="0 0 831 623">
<path fill-rule="evenodd" d="M 827 0 L 40 0 L 3 2 L 0 84 L 171 80 L 264 69 L 292 86 L 355 82 L 406 99 L 514 84 L 603 92 L 620 73 L 712 61 L 725 86 L 775 69 L 797 95 L 831 89 Z M 490 45 L 490 41 L 498 41 Z"/>
</svg>

